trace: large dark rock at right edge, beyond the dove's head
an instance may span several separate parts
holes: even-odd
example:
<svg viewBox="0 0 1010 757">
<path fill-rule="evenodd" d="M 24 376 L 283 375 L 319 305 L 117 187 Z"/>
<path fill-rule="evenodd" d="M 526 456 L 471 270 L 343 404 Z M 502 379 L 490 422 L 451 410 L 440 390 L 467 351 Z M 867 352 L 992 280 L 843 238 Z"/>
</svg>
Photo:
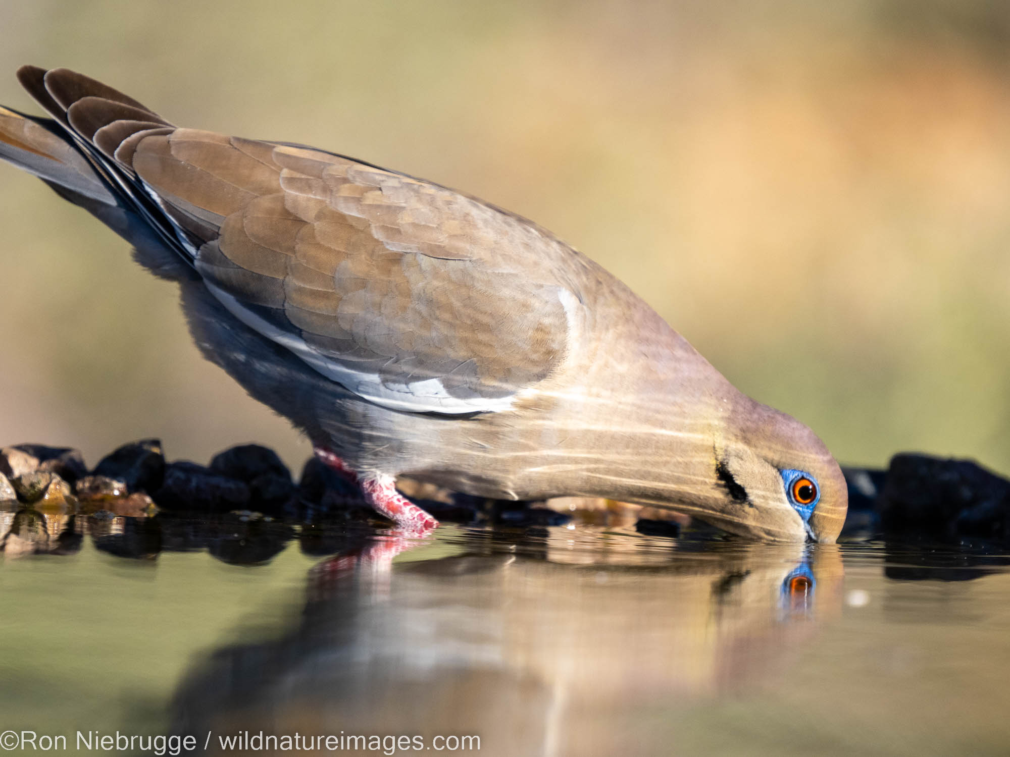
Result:
<svg viewBox="0 0 1010 757">
<path fill-rule="evenodd" d="M 1010 481 L 971 460 L 895 455 L 877 509 L 891 535 L 1010 538 Z"/>
</svg>

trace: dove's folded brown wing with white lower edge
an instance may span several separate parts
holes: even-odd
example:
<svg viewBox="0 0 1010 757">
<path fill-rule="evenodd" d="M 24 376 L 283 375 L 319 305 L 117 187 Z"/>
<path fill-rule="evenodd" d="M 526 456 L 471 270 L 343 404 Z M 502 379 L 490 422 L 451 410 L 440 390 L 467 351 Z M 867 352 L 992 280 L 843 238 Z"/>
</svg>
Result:
<svg viewBox="0 0 1010 757">
<path fill-rule="evenodd" d="M 176 128 L 67 70 L 19 77 L 232 314 L 366 399 L 504 410 L 578 338 L 584 263 L 524 219 L 342 155 Z"/>
</svg>

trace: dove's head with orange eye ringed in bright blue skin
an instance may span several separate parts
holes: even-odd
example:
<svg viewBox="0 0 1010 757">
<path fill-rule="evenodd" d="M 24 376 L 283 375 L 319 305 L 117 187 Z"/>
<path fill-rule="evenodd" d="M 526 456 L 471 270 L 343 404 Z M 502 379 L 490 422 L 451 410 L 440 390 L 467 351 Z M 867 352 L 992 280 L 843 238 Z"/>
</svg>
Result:
<svg viewBox="0 0 1010 757">
<path fill-rule="evenodd" d="M 848 494 L 834 457 L 795 418 L 739 395 L 716 432 L 715 488 L 708 518 L 731 533 L 833 543 Z"/>
</svg>

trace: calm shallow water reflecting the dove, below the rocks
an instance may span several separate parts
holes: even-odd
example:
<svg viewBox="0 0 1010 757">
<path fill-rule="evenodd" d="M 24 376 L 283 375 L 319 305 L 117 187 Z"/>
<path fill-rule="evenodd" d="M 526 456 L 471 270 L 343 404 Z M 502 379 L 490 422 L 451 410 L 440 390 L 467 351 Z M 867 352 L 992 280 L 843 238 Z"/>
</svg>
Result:
<svg viewBox="0 0 1010 757">
<path fill-rule="evenodd" d="M 316 737 L 341 733 L 381 737 L 370 754 L 471 735 L 495 755 L 1010 750 L 1001 554 L 581 524 L 423 541 L 235 516 L 70 526 L 82 536 L 65 554 L 8 550 L 0 569 L 0 730 L 36 744 L 177 734 L 193 736 L 183 754 L 219 753 L 248 732 L 310 735 L 291 749 L 320 753 L 340 743 Z"/>
</svg>

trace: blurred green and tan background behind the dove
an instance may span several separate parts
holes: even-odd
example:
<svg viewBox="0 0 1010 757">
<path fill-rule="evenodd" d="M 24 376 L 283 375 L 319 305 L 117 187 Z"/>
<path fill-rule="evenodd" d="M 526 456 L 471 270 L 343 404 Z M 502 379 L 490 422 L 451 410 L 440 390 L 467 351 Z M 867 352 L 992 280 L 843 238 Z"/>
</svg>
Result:
<svg viewBox="0 0 1010 757">
<path fill-rule="evenodd" d="M 23 63 L 530 217 L 843 462 L 1010 470 L 1010 6 L 989 0 L 19 2 Z M 0 168 L 0 443 L 309 452 L 175 287 Z"/>
</svg>

